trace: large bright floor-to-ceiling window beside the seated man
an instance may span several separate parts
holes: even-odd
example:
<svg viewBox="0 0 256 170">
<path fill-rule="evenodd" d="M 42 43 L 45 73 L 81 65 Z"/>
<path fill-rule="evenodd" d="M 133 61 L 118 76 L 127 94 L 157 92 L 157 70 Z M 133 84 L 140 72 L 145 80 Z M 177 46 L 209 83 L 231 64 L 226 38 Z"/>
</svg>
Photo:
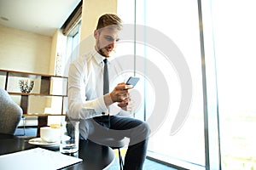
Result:
<svg viewBox="0 0 256 170">
<path fill-rule="evenodd" d="M 146 79 L 143 105 L 135 116 L 150 122 L 151 116 L 159 114 L 163 119 L 150 136 L 148 156 L 189 169 L 255 169 L 254 8 L 253 0 L 119 0 L 120 17 L 126 24 L 136 25 L 134 45 L 122 48 L 123 53 L 133 53 L 135 72 Z M 159 41 L 157 35 L 162 34 Z M 165 37 L 183 54 L 191 84 L 183 86 L 175 53 L 161 48 L 177 50 Z M 138 65 L 141 57 L 144 63 Z M 160 87 L 166 91 L 163 99 L 157 98 L 159 87 L 150 77 L 154 66 L 166 81 Z M 177 113 L 183 115 L 179 106 L 183 88 L 189 86 L 193 95 L 188 116 L 180 116 L 180 122 L 186 121 L 176 133 L 170 133 Z M 162 115 L 154 108 L 159 100 L 165 107 L 164 96 L 168 96 L 169 108 Z M 157 119 L 155 123 L 159 123 Z"/>
</svg>

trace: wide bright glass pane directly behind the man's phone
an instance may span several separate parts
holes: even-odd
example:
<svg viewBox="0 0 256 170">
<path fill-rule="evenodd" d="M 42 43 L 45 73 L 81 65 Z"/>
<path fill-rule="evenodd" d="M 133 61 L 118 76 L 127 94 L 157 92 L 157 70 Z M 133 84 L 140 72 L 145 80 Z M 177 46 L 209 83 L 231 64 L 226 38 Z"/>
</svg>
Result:
<svg viewBox="0 0 256 170">
<path fill-rule="evenodd" d="M 119 0 L 119 8 L 126 6 L 126 1 Z M 191 168 L 189 165 L 192 163 L 204 168 L 205 144 L 197 1 L 137 1 L 136 8 L 135 68 L 146 80 L 142 92 L 144 103 L 140 114 L 146 113 L 144 118 L 147 122 L 156 117 L 150 126 L 152 132 L 148 156 L 181 167 Z M 119 10 L 119 15 L 125 20 L 133 20 L 129 18 L 133 16 L 132 11 Z M 140 62 L 141 57 L 143 63 Z M 184 60 L 184 63 L 178 63 L 177 60 Z M 192 83 L 184 85 L 183 71 L 185 72 L 186 65 Z M 179 121 L 180 128 L 171 135 L 175 117 L 180 114 L 179 107 L 187 95 L 183 91 L 184 87 L 191 88 L 192 103 L 189 105 L 189 111 L 179 116 L 186 121 Z M 184 162 L 187 166 L 184 166 Z"/>
</svg>

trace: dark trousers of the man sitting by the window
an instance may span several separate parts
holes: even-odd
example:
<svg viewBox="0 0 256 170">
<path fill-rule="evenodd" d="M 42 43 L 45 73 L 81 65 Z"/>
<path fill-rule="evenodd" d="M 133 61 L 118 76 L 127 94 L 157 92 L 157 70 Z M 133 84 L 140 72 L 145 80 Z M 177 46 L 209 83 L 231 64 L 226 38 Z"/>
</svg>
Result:
<svg viewBox="0 0 256 170">
<path fill-rule="evenodd" d="M 104 128 L 96 128 L 98 133 L 106 138 L 130 139 L 128 150 L 125 155 L 124 170 L 143 169 L 143 163 L 146 158 L 148 147 L 149 127 L 146 122 L 123 116 L 101 116 L 95 117 L 94 120 Z M 101 127 L 102 127 L 101 126 Z"/>
</svg>

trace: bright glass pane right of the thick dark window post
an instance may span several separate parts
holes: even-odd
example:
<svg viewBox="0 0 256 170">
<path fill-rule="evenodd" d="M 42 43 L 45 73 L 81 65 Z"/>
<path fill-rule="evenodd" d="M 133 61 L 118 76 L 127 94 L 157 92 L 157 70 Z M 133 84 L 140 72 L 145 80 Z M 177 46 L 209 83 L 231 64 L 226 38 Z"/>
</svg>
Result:
<svg viewBox="0 0 256 170">
<path fill-rule="evenodd" d="M 253 0 L 212 1 L 224 169 L 256 168 L 255 8 Z"/>
</svg>

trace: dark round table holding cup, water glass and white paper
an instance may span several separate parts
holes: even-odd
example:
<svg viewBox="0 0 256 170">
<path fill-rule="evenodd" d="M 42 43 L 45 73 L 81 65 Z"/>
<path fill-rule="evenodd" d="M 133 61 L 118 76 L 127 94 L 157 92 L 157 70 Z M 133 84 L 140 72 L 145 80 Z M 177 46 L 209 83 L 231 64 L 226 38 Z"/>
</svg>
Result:
<svg viewBox="0 0 256 170">
<path fill-rule="evenodd" d="M 19 138 L 14 135 L 0 133 L 0 155 L 38 147 L 37 145 L 29 144 L 29 139 L 32 138 Z M 111 165 L 114 160 L 114 153 L 110 147 L 82 139 L 79 140 L 79 152 L 73 154 L 73 156 L 77 156 L 83 161 L 62 169 L 102 170 Z"/>
</svg>

